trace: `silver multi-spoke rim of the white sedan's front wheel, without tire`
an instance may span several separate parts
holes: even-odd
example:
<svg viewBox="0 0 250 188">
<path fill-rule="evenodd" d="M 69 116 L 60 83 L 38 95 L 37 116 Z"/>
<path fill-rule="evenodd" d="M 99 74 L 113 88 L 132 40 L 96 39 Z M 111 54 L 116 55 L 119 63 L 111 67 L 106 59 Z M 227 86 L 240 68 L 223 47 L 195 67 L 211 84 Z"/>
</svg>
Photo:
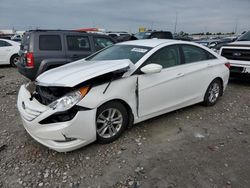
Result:
<svg viewBox="0 0 250 188">
<path fill-rule="evenodd" d="M 110 138 L 121 129 L 122 122 L 122 113 L 118 109 L 106 109 L 96 119 L 97 134 L 103 138 Z"/>
</svg>

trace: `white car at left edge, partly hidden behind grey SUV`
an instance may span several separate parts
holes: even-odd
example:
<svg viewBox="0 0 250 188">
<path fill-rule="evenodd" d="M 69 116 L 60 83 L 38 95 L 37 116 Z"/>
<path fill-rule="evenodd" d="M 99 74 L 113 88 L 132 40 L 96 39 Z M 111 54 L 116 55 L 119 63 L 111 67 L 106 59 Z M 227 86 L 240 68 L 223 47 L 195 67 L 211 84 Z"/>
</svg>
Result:
<svg viewBox="0 0 250 188">
<path fill-rule="evenodd" d="M 19 60 L 20 43 L 0 38 L 0 65 L 11 65 Z"/>
</svg>

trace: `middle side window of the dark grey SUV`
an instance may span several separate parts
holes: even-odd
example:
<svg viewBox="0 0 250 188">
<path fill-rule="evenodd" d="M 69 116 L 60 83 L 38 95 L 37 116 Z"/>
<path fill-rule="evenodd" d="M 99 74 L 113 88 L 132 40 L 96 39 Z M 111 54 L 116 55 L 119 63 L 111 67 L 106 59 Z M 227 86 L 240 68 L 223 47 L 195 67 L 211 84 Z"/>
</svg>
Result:
<svg viewBox="0 0 250 188">
<path fill-rule="evenodd" d="M 89 38 L 86 36 L 67 36 L 68 50 L 90 51 Z"/>
</svg>

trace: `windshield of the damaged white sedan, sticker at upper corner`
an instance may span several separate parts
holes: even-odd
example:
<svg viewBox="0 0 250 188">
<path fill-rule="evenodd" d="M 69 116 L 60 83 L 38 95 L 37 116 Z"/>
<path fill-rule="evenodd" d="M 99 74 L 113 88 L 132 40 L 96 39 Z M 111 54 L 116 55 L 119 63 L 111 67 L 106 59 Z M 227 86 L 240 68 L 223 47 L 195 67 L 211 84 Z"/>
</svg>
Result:
<svg viewBox="0 0 250 188">
<path fill-rule="evenodd" d="M 130 59 L 132 63 L 139 61 L 151 48 L 146 46 L 135 45 L 114 45 L 94 54 L 86 61 L 103 61 L 103 60 L 119 60 Z"/>
</svg>

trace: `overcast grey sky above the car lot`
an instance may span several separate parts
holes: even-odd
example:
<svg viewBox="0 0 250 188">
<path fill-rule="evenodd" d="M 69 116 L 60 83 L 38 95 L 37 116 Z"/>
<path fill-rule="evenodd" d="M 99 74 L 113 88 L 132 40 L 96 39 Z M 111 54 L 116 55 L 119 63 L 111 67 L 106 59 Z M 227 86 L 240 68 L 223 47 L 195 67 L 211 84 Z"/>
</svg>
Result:
<svg viewBox="0 0 250 188">
<path fill-rule="evenodd" d="M 0 29 L 250 30 L 250 0 L 0 0 Z"/>
</svg>

